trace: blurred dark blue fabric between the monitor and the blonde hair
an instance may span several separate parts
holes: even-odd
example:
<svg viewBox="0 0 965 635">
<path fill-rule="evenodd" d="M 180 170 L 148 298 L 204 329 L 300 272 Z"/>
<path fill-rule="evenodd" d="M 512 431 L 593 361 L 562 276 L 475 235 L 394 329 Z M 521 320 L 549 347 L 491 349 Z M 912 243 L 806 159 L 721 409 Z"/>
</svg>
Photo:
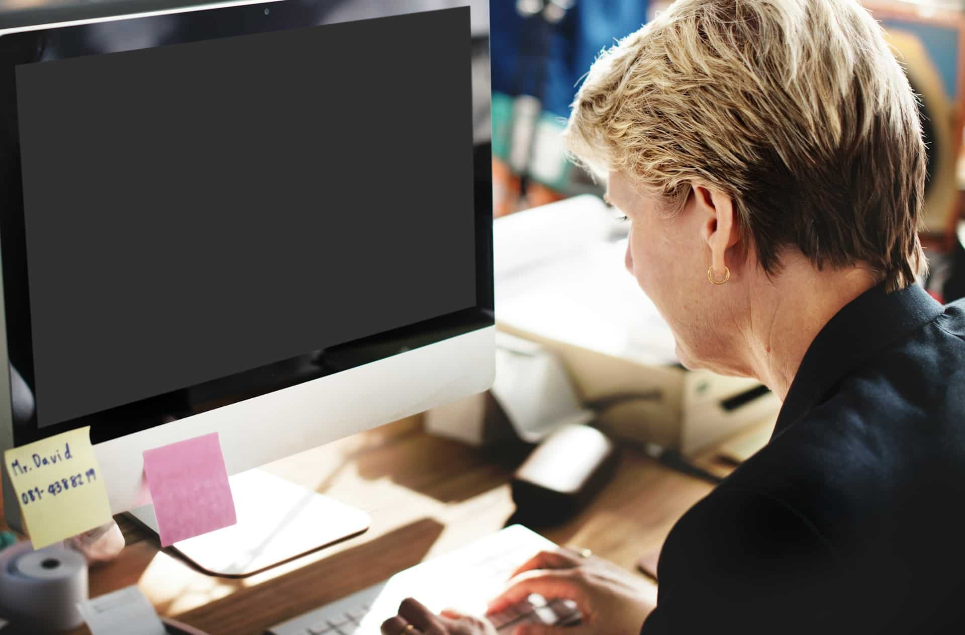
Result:
<svg viewBox="0 0 965 635">
<path fill-rule="evenodd" d="M 523 18 L 515 0 L 489 4 L 492 90 L 510 97 L 542 94 L 543 109 L 568 117 L 576 84 L 601 49 L 647 22 L 647 0 L 576 0 L 564 19 L 549 25 Z M 540 59 L 540 42 L 547 55 Z M 539 86 L 540 65 L 545 81 Z"/>
</svg>

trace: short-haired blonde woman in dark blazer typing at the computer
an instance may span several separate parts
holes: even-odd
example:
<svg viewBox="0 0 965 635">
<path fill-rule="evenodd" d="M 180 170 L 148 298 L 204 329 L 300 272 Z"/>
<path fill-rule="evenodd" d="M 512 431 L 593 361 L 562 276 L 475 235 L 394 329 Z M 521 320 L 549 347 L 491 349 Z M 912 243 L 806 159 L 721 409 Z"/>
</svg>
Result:
<svg viewBox="0 0 965 635">
<path fill-rule="evenodd" d="M 655 607 L 561 552 L 492 608 L 571 597 L 574 635 L 962 632 L 965 303 L 915 283 L 924 144 L 879 26 L 857 0 L 678 0 L 593 64 L 566 140 L 680 360 L 784 405 L 667 538 Z M 403 630 L 493 632 L 415 601 Z"/>
</svg>

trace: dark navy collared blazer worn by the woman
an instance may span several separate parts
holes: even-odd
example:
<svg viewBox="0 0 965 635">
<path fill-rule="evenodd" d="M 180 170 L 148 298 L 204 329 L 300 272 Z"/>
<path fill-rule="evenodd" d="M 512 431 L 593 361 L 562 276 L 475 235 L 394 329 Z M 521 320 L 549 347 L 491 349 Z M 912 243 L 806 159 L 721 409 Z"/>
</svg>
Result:
<svg viewBox="0 0 965 635">
<path fill-rule="evenodd" d="M 644 635 L 965 633 L 965 300 L 841 309 L 657 572 Z"/>
</svg>

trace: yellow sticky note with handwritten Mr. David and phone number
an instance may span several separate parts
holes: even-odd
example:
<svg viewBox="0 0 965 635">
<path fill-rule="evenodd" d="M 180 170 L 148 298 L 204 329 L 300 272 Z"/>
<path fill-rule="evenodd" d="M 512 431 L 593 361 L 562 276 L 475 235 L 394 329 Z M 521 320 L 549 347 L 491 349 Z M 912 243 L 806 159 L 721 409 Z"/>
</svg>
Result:
<svg viewBox="0 0 965 635">
<path fill-rule="evenodd" d="M 110 521 L 90 427 L 8 450 L 4 463 L 35 549 Z"/>
</svg>

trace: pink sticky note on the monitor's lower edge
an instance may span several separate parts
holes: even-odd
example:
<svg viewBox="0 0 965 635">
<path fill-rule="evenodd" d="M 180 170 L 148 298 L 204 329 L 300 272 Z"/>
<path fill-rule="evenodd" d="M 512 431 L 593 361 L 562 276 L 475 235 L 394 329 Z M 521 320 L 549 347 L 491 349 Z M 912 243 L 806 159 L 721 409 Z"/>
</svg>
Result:
<svg viewBox="0 0 965 635">
<path fill-rule="evenodd" d="M 162 547 L 237 522 L 217 432 L 146 450 L 144 474 Z"/>
</svg>

